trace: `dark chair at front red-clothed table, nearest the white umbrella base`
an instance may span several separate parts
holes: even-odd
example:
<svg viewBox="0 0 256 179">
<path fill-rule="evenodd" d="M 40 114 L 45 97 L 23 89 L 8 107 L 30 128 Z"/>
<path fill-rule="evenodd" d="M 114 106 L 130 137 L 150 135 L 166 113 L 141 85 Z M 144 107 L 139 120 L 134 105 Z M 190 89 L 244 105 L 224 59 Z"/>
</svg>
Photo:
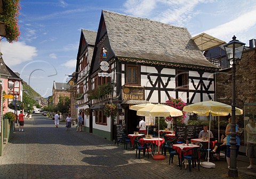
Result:
<svg viewBox="0 0 256 179">
<path fill-rule="evenodd" d="M 200 154 L 200 148 L 199 147 L 193 147 L 193 148 L 190 148 L 186 151 L 181 151 L 181 161 L 183 161 L 183 159 L 187 159 L 188 160 L 188 168 L 189 168 L 189 172 L 191 172 L 191 163 L 192 163 L 192 167 L 194 168 L 194 163 L 196 165 L 196 161 L 197 161 L 197 165 L 198 165 L 198 171 L 200 171 L 200 157 L 199 157 L 199 154 Z M 185 152 L 189 152 L 191 151 L 192 154 L 191 155 L 183 155 Z M 180 169 L 181 169 L 182 165 L 180 165 Z"/>
</svg>

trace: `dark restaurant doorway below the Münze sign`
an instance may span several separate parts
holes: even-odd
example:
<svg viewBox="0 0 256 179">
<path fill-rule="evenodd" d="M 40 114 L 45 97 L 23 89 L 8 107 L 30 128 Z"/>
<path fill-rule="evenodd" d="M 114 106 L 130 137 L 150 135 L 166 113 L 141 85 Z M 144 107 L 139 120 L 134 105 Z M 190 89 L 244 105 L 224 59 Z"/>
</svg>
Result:
<svg viewBox="0 0 256 179">
<path fill-rule="evenodd" d="M 139 125 L 140 120 L 136 110 L 131 110 L 129 108 L 127 108 L 127 110 L 127 133 L 133 134 L 134 131 L 139 131 L 137 125 Z"/>
</svg>

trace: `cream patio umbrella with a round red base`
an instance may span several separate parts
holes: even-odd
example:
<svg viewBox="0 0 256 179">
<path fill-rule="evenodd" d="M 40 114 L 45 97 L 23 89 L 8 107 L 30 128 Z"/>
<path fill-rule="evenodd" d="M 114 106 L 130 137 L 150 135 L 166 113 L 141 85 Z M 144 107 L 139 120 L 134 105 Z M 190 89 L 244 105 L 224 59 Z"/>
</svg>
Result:
<svg viewBox="0 0 256 179">
<path fill-rule="evenodd" d="M 183 115 L 182 111 L 179 109 L 175 109 L 171 106 L 167 105 L 151 105 L 148 107 L 141 108 L 137 110 L 138 116 L 153 116 L 158 117 L 158 131 L 159 131 L 159 117 L 167 117 L 167 116 L 181 116 Z M 160 143 L 160 135 L 158 132 L 158 143 Z M 153 159 L 155 160 L 163 160 L 165 157 L 163 155 L 159 155 L 159 146 L 158 146 L 158 155 L 154 155 Z"/>
</svg>

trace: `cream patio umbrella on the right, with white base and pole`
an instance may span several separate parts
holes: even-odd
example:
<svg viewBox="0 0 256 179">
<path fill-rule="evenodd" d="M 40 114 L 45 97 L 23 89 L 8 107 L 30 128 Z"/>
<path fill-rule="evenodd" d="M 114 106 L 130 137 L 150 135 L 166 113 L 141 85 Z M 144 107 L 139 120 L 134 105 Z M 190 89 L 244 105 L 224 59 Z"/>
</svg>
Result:
<svg viewBox="0 0 256 179">
<path fill-rule="evenodd" d="M 211 116 L 228 116 L 231 115 L 231 106 L 220 103 L 218 101 L 202 101 L 199 103 L 194 103 L 188 106 L 183 107 L 183 111 L 187 113 L 195 113 L 199 116 L 210 116 L 210 123 L 209 123 L 209 131 L 211 131 Z M 236 108 L 236 115 L 242 115 L 243 110 Z M 208 148 L 210 148 L 210 132 L 209 132 L 209 142 Z M 209 161 L 209 150 L 208 150 L 208 157 L 207 161 L 201 163 L 202 167 L 205 168 L 215 168 L 215 164 Z"/>
</svg>

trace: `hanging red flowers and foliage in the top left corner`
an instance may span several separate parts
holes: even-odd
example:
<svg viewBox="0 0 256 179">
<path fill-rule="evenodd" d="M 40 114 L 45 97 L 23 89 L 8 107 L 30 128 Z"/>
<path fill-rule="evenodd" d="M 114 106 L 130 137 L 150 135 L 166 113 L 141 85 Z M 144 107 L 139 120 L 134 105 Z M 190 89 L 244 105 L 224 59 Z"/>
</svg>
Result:
<svg viewBox="0 0 256 179">
<path fill-rule="evenodd" d="M 0 1 L 0 36 L 6 38 L 10 43 L 17 41 L 20 35 L 18 17 L 20 0 L 2 0 Z"/>
</svg>

